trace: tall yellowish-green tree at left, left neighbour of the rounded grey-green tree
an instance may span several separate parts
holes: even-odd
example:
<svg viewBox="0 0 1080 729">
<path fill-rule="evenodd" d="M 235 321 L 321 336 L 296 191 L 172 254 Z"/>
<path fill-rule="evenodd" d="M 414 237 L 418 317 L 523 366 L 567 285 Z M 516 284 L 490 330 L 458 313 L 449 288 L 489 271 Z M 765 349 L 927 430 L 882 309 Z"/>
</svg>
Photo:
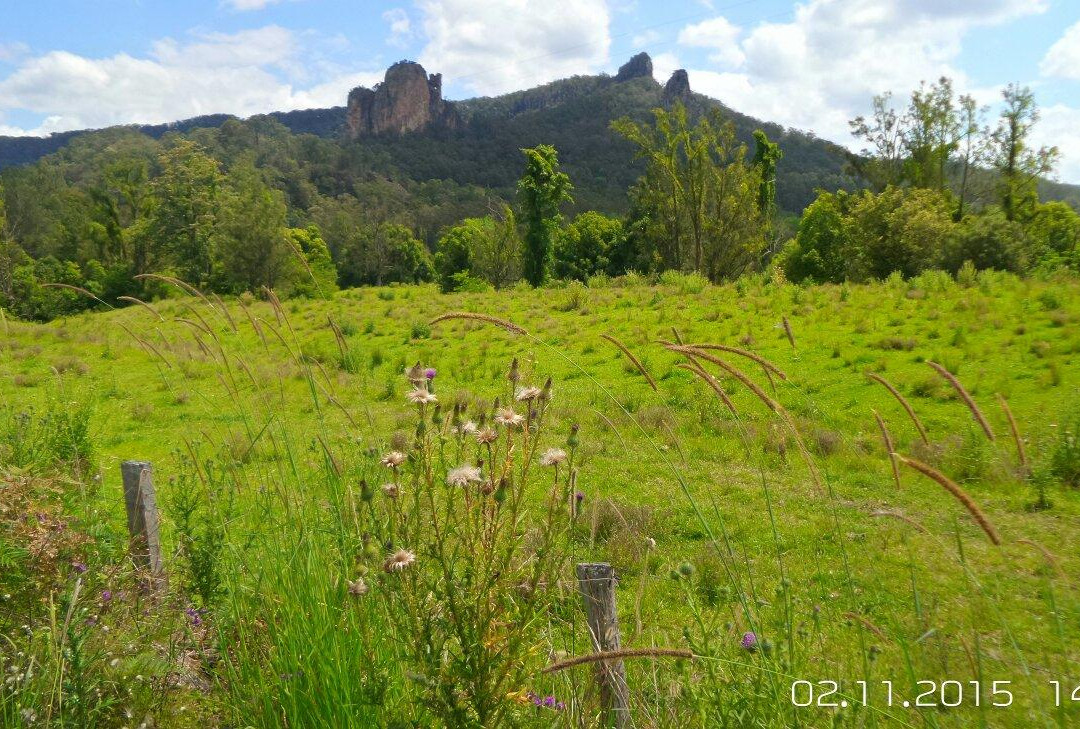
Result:
<svg viewBox="0 0 1080 729">
<path fill-rule="evenodd" d="M 206 285 L 214 272 L 214 226 L 222 180 L 217 161 L 195 143 L 181 139 L 162 152 L 159 163 L 153 217 L 133 252 L 135 271 L 150 270 L 165 254 L 181 279 Z"/>
</svg>

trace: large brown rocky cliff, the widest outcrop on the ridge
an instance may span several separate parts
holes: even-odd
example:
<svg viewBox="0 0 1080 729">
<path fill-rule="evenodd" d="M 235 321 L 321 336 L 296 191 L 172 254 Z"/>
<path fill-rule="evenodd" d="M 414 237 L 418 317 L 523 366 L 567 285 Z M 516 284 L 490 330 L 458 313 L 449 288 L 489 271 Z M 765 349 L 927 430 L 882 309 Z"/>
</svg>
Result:
<svg viewBox="0 0 1080 729">
<path fill-rule="evenodd" d="M 346 132 L 352 139 L 373 134 L 455 129 L 461 122 L 454 105 L 443 99 L 443 77 L 428 76 L 423 66 L 402 60 L 387 69 L 374 89 L 349 92 Z"/>
</svg>

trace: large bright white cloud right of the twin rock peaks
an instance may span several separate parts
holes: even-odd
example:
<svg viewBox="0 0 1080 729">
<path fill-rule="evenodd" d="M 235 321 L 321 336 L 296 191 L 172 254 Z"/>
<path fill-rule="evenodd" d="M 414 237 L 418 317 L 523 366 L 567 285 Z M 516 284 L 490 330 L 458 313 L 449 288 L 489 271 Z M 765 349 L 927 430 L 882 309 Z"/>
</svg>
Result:
<svg viewBox="0 0 1080 729">
<path fill-rule="evenodd" d="M 867 112 L 874 94 L 904 97 L 941 76 L 973 92 L 955 65 L 963 35 L 1043 10 L 1044 0 L 809 0 L 792 22 L 744 33 L 737 68 L 690 69 L 690 86 L 742 112 L 853 144 L 848 120 Z M 684 32 L 700 39 L 691 29 L 702 25 Z"/>
</svg>

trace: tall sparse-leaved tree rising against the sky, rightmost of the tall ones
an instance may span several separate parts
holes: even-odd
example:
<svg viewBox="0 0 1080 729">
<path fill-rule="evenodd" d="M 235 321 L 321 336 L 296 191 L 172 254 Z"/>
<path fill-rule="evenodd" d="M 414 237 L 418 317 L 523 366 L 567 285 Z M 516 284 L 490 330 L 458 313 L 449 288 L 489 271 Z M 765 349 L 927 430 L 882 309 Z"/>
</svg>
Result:
<svg viewBox="0 0 1080 729">
<path fill-rule="evenodd" d="M 1038 203 L 1036 183 L 1053 171 L 1057 147 L 1030 147 L 1031 127 L 1039 121 L 1035 95 L 1027 86 L 1009 84 L 1004 107 L 990 137 L 990 163 L 998 173 L 1001 210 L 1009 220 L 1030 216 Z"/>
</svg>

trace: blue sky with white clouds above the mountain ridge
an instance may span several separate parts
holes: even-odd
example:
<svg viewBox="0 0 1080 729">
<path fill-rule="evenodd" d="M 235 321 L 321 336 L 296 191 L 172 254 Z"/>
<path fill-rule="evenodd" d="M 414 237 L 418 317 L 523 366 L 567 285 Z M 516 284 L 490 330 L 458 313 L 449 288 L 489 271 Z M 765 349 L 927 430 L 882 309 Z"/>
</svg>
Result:
<svg viewBox="0 0 1080 729">
<path fill-rule="evenodd" d="M 874 94 L 948 76 L 987 107 L 1031 87 L 1036 141 L 1080 184 L 1080 0 L 0 0 L 0 135 L 342 106 L 390 64 L 448 98 L 615 72 L 853 149 Z"/>
</svg>

